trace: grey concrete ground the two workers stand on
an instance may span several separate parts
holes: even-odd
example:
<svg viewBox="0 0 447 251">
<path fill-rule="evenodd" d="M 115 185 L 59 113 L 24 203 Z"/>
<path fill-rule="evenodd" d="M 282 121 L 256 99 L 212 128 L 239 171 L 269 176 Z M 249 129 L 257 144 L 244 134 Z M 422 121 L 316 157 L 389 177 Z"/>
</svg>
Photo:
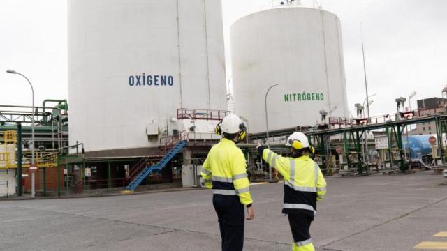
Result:
<svg viewBox="0 0 447 251">
<path fill-rule="evenodd" d="M 447 185 L 439 185 L 446 178 L 421 172 L 327 181 L 328 195 L 311 228 L 318 250 L 413 250 L 423 241 L 447 243 L 447 237 L 434 237 L 447 231 Z M 282 186 L 251 186 L 256 218 L 246 223 L 244 250 L 291 250 Z M 189 190 L 0 201 L 0 250 L 219 250 L 211 199 L 210 190 Z"/>
</svg>

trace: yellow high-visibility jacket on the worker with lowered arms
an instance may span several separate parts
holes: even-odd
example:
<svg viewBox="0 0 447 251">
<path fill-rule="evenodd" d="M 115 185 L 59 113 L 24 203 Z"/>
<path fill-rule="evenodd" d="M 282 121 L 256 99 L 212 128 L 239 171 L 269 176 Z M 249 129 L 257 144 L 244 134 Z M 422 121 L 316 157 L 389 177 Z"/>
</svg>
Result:
<svg viewBox="0 0 447 251">
<path fill-rule="evenodd" d="M 201 176 L 214 195 L 237 195 L 245 206 L 252 203 L 245 156 L 233 140 L 223 138 L 212 146 L 203 163 Z"/>
</svg>

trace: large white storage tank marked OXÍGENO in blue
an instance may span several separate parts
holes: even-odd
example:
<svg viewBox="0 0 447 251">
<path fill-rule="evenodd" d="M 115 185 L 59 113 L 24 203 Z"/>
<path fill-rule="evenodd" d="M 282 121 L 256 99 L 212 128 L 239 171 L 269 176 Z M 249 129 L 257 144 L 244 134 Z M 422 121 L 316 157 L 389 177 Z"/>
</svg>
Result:
<svg viewBox="0 0 447 251">
<path fill-rule="evenodd" d="M 226 109 L 220 0 L 69 0 L 70 143 L 157 146 L 177 109 Z"/>
</svg>

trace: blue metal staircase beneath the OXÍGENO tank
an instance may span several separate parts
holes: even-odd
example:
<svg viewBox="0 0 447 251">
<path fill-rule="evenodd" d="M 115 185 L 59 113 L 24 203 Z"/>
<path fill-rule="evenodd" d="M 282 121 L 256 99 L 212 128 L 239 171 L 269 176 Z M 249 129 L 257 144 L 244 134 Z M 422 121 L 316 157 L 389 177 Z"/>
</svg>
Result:
<svg viewBox="0 0 447 251">
<path fill-rule="evenodd" d="M 124 192 L 133 192 L 138 185 L 140 185 L 140 183 L 153 171 L 155 170 L 161 170 L 163 167 L 166 166 L 166 164 L 168 164 L 168 162 L 170 160 L 173 159 L 173 157 L 179 153 L 179 151 L 181 151 L 183 149 L 184 146 L 186 146 L 186 140 L 183 140 L 181 142 L 178 142 L 177 144 L 175 144 L 175 146 L 173 147 L 173 149 L 170 149 L 170 151 L 168 153 L 166 153 L 166 155 L 163 156 L 163 158 L 161 158 L 161 160 L 156 163 L 156 165 L 154 166 L 147 166 L 145 167 L 145 169 L 142 169 L 142 171 L 140 172 L 140 174 L 138 174 L 137 176 L 135 176 L 135 178 L 133 179 L 133 181 L 131 181 L 131 183 L 129 183 L 129 185 L 126 186 L 126 190 Z"/>
</svg>

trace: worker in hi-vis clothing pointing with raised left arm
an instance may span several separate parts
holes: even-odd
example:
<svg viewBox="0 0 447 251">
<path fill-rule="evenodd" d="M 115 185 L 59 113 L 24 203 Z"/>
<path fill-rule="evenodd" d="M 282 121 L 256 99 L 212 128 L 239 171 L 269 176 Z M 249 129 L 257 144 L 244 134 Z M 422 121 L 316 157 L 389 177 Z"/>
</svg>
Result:
<svg viewBox="0 0 447 251">
<path fill-rule="evenodd" d="M 320 167 L 309 158 L 315 150 L 302 132 L 287 139 L 291 157 L 282 157 L 258 144 L 258 151 L 271 167 L 284 177 L 284 207 L 291 226 L 293 251 L 313 251 L 310 225 L 316 215 L 316 201 L 326 193 L 326 181 Z"/>
</svg>

